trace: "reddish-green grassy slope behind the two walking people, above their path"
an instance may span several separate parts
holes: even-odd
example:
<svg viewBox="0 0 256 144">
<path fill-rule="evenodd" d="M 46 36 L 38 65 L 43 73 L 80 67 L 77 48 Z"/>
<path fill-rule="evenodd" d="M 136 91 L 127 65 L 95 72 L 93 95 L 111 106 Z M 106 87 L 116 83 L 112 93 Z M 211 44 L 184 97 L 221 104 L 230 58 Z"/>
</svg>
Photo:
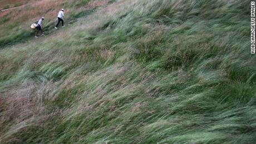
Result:
<svg viewBox="0 0 256 144">
<path fill-rule="evenodd" d="M 76 14 L 88 9 L 85 6 L 89 1 L 30 1 L 8 12 L 0 12 L 0 48 L 28 41 L 35 35 L 35 32 L 30 29 L 31 23 L 38 21 L 41 17 L 45 17 L 44 31 L 51 31 L 56 23 L 58 11 L 63 7 L 66 8 L 65 21 L 74 21 L 77 18 Z"/>
</svg>

